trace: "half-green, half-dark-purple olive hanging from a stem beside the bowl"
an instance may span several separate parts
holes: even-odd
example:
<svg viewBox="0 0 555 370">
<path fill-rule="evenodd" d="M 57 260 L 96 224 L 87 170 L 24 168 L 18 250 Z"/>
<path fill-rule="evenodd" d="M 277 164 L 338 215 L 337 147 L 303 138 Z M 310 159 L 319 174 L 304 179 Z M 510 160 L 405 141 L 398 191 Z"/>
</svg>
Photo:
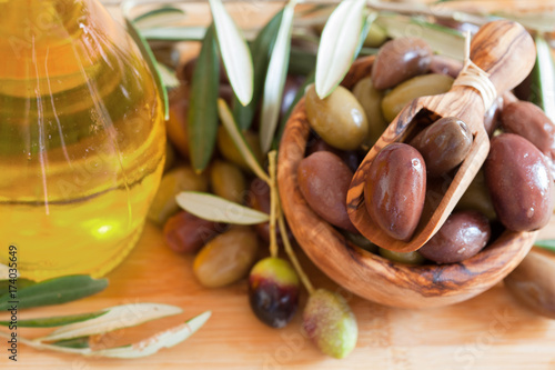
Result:
<svg viewBox="0 0 555 370">
<path fill-rule="evenodd" d="M 249 302 L 260 321 L 283 328 L 299 307 L 300 284 L 295 270 L 281 258 L 259 261 L 249 276 Z"/>
</svg>

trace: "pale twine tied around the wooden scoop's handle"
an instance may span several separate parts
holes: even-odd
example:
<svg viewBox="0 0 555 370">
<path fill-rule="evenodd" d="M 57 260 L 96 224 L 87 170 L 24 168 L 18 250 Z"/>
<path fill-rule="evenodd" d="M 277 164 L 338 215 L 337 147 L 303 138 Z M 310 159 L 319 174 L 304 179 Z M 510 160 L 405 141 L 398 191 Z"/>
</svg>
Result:
<svg viewBox="0 0 555 370">
<path fill-rule="evenodd" d="M 465 32 L 465 48 L 464 48 L 464 67 L 453 86 L 466 86 L 476 89 L 482 97 L 484 108 L 487 110 L 495 98 L 497 90 L 490 80 L 490 73 L 484 72 L 482 68 L 476 66 L 471 60 L 471 32 Z"/>
</svg>

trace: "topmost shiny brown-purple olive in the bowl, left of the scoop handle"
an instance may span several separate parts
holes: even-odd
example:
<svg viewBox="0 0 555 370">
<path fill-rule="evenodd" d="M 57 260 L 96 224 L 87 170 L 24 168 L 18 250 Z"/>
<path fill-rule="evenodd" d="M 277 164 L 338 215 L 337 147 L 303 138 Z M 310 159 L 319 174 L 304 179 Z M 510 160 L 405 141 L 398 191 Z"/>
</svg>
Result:
<svg viewBox="0 0 555 370">
<path fill-rule="evenodd" d="M 400 38 L 387 41 L 377 52 L 372 66 L 372 82 L 379 90 L 390 89 L 425 73 L 432 61 L 432 49 L 418 38 Z"/>
</svg>

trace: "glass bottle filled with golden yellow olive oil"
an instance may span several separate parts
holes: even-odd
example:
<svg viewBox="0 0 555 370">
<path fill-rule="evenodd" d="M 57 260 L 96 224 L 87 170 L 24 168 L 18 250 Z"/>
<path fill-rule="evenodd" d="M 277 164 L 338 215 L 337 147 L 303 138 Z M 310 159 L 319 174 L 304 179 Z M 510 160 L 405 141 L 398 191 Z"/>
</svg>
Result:
<svg viewBox="0 0 555 370">
<path fill-rule="evenodd" d="M 147 63 L 97 0 L 0 1 L 0 263 L 99 277 L 135 244 L 164 161 Z"/>
</svg>

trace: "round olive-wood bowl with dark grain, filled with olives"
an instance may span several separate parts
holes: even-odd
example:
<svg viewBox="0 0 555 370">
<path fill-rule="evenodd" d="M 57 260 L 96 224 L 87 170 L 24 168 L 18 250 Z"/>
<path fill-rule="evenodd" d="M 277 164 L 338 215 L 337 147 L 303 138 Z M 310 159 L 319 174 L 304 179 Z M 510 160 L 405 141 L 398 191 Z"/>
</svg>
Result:
<svg viewBox="0 0 555 370">
<path fill-rule="evenodd" d="M 370 76 L 373 57 L 357 60 L 342 82 L 352 89 Z M 302 249 L 331 279 L 365 299 L 392 307 L 453 304 L 490 289 L 524 259 L 538 231 L 505 231 L 478 254 L 460 263 L 407 266 L 351 243 L 305 202 L 296 170 L 304 158 L 310 126 L 304 100 L 295 107 L 280 144 L 278 183 L 283 211 Z"/>
</svg>

